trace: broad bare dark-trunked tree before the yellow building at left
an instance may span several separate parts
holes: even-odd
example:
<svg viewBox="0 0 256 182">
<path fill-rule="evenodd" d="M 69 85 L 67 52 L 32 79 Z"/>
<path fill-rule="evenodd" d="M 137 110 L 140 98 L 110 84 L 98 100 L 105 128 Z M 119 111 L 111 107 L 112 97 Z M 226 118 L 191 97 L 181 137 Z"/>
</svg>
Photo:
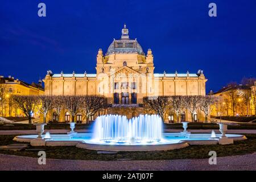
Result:
<svg viewBox="0 0 256 182">
<path fill-rule="evenodd" d="M 31 122 L 32 113 L 35 111 L 36 99 L 35 96 L 17 96 L 13 95 L 13 101 L 18 105 L 19 109 L 28 117 L 28 123 Z"/>
</svg>

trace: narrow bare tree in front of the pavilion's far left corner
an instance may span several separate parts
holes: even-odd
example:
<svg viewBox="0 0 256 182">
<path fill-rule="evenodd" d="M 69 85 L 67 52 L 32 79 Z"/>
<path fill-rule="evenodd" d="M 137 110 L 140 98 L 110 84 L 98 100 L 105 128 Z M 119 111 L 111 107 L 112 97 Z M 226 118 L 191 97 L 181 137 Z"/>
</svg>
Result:
<svg viewBox="0 0 256 182">
<path fill-rule="evenodd" d="M 43 122 L 46 123 L 46 116 L 52 107 L 52 97 L 47 95 L 36 96 L 36 107 L 39 113 L 43 114 Z"/>
</svg>

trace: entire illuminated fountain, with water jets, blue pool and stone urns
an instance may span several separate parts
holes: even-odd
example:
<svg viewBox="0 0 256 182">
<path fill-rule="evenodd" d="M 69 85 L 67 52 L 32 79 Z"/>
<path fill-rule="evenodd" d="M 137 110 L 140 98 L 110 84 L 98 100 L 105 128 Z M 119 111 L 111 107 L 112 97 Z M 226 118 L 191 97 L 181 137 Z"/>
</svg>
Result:
<svg viewBox="0 0 256 182">
<path fill-rule="evenodd" d="M 230 144 L 246 139 L 243 135 L 226 134 L 227 125 L 220 125 L 221 134 L 190 133 L 188 122 L 184 131 L 164 133 L 159 115 L 139 115 L 127 119 L 125 115 L 101 115 L 93 123 L 92 133 L 43 135 L 43 126 L 37 126 L 38 135 L 16 136 L 14 140 L 30 142 L 32 146 L 76 146 L 98 151 L 160 151 L 188 147 L 193 144 Z"/>
</svg>

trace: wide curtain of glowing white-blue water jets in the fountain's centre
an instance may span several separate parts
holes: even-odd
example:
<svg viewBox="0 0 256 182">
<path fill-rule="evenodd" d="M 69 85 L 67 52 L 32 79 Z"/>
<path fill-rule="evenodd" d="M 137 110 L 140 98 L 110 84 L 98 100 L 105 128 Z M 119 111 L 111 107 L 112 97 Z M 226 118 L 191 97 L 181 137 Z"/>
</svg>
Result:
<svg viewBox="0 0 256 182">
<path fill-rule="evenodd" d="M 162 119 L 158 115 L 139 115 L 127 119 L 124 115 L 97 117 L 93 128 L 96 142 L 147 143 L 162 139 Z"/>
</svg>

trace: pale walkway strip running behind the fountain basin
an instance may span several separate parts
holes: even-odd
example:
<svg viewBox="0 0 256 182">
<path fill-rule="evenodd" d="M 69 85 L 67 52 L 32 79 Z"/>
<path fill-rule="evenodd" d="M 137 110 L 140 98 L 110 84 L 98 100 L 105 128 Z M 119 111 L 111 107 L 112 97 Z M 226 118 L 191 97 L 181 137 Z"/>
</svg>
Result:
<svg viewBox="0 0 256 182">
<path fill-rule="evenodd" d="M 45 130 L 51 134 L 63 134 L 69 132 L 69 130 Z M 88 133 L 90 130 L 75 130 L 78 133 Z M 166 132 L 180 132 L 182 130 L 166 129 Z M 212 130 L 188 130 L 191 133 L 211 133 Z M 216 133 L 220 133 L 219 130 L 214 130 Z M 228 130 L 228 133 L 234 134 L 256 134 L 256 130 Z M 37 134 L 36 130 L 0 130 L 0 135 L 26 135 L 26 134 Z"/>
</svg>

